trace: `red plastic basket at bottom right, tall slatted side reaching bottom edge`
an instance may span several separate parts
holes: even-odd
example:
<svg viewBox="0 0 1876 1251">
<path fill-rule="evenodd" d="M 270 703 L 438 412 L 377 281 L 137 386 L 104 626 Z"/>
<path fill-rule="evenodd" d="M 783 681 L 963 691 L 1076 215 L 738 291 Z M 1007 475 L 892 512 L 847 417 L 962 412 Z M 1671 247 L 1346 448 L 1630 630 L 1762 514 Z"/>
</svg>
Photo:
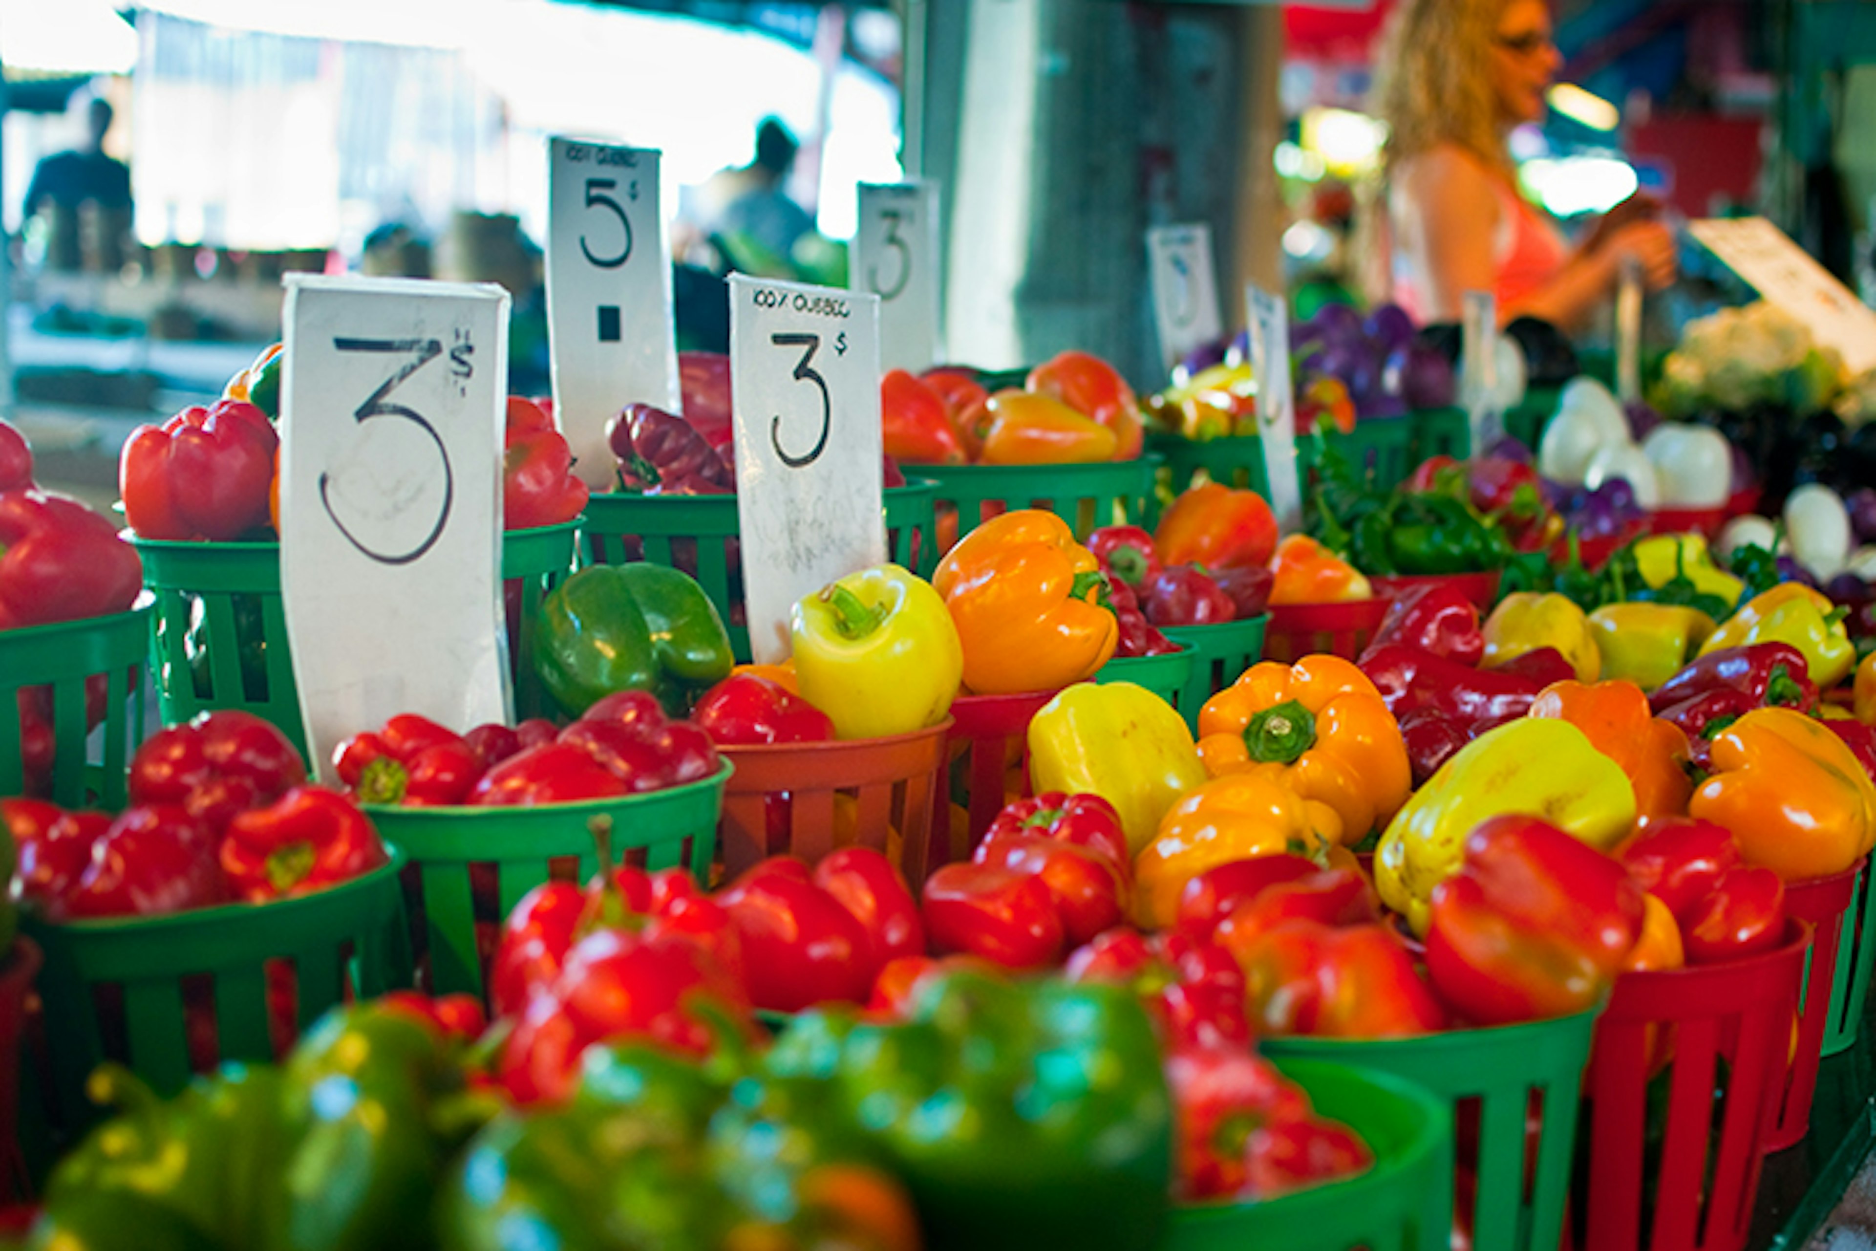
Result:
<svg viewBox="0 0 1876 1251">
<path fill-rule="evenodd" d="M 1810 927 L 1792 921 L 1786 943 L 1760 957 L 1615 979 L 1583 1082 L 1578 1247 L 1745 1245 L 1810 940 Z M 1651 1073 L 1670 1030 L 1672 1063 Z M 1651 1078 L 1668 1084 L 1653 1116 L 1658 1148 Z"/>
</svg>

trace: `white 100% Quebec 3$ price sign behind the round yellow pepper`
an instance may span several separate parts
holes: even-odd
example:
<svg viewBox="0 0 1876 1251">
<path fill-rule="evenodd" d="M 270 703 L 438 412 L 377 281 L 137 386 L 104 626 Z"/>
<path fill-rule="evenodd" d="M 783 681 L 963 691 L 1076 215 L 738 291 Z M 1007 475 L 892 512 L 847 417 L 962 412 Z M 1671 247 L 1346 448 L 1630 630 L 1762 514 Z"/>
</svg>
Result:
<svg viewBox="0 0 1876 1251">
<path fill-rule="evenodd" d="M 880 298 L 732 274 L 730 379 L 749 649 L 775 664 L 795 600 L 885 561 Z"/>
</svg>

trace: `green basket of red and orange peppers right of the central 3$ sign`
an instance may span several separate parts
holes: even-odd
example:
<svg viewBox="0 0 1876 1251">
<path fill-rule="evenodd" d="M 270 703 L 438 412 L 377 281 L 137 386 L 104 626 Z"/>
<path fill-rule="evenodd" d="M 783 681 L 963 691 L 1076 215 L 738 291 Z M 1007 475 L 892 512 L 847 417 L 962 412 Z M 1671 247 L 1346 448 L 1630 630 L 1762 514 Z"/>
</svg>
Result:
<svg viewBox="0 0 1876 1251">
<path fill-rule="evenodd" d="M 957 508 L 957 536 L 1007 508 L 1047 508 L 1075 538 L 1103 525 L 1142 525 L 1159 461 L 1090 465 L 919 465 L 938 486 L 938 510 Z"/>
</svg>

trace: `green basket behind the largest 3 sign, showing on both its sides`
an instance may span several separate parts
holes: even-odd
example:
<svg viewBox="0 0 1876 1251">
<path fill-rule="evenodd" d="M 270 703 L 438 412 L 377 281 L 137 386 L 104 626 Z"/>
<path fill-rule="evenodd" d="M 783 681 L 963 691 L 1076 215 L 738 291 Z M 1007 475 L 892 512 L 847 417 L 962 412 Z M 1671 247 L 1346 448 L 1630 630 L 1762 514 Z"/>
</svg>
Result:
<svg viewBox="0 0 1876 1251">
<path fill-rule="evenodd" d="M 572 570 L 576 529 L 578 521 L 567 521 L 503 535 L 501 576 L 522 583 L 520 641 L 533 636 L 546 591 Z M 143 585 L 156 593 L 148 649 L 163 724 L 240 709 L 278 726 L 304 756 L 306 726 L 280 596 L 280 544 L 131 542 L 143 557 Z M 538 705 L 544 696 L 533 666 L 520 664 L 527 651 L 510 651 L 516 705 Z"/>
</svg>

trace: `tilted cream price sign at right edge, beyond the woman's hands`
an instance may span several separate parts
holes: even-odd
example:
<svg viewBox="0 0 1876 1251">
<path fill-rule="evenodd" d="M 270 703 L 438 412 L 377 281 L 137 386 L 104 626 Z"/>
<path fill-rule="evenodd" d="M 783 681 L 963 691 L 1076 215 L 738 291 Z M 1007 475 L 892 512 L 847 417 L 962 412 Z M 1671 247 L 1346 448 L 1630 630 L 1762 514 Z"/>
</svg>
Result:
<svg viewBox="0 0 1876 1251">
<path fill-rule="evenodd" d="M 1876 311 L 1790 234 L 1765 218 L 1690 221 L 1687 231 L 1762 296 L 1805 323 L 1818 343 L 1835 347 L 1852 373 L 1876 369 Z"/>
</svg>

